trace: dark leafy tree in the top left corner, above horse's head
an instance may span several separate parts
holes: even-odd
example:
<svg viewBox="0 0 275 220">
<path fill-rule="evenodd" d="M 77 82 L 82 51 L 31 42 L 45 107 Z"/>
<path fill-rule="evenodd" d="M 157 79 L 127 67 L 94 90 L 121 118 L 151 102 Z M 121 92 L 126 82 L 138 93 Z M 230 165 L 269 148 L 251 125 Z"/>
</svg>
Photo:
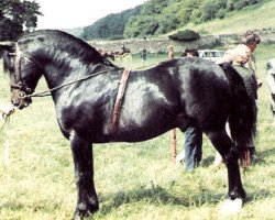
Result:
<svg viewBox="0 0 275 220">
<path fill-rule="evenodd" d="M 37 25 L 40 4 L 35 1 L 1 0 L 0 1 L 0 41 L 14 41 Z"/>
</svg>

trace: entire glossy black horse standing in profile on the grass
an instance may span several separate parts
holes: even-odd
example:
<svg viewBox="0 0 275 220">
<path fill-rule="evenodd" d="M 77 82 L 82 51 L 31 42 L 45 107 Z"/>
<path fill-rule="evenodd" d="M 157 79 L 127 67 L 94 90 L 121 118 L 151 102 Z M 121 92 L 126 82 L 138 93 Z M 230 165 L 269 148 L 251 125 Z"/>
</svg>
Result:
<svg viewBox="0 0 275 220">
<path fill-rule="evenodd" d="M 74 217 L 99 209 L 92 143 L 140 142 L 189 125 L 199 127 L 226 161 L 229 199 L 245 199 L 239 155 L 253 140 L 255 121 L 244 84 L 230 66 L 186 57 L 131 72 L 118 129 L 111 133 L 122 68 L 84 41 L 59 31 L 29 33 L 1 48 L 14 106 L 28 107 L 41 76 L 47 81 L 59 128 L 69 139 L 74 156 L 78 190 Z M 233 141 L 226 132 L 227 121 Z"/>
</svg>

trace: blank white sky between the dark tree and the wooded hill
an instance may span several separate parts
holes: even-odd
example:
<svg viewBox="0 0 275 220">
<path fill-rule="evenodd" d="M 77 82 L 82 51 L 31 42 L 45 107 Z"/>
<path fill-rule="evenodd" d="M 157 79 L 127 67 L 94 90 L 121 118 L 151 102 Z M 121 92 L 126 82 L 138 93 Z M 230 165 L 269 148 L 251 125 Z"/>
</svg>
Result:
<svg viewBox="0 0 275 220">
<path fill-rule="evenodd" d="M 37 29 L 87 26 L 110 13 L 134 8 L 146 0 L 34 0 L 40 3 Z"/>
</svg>

